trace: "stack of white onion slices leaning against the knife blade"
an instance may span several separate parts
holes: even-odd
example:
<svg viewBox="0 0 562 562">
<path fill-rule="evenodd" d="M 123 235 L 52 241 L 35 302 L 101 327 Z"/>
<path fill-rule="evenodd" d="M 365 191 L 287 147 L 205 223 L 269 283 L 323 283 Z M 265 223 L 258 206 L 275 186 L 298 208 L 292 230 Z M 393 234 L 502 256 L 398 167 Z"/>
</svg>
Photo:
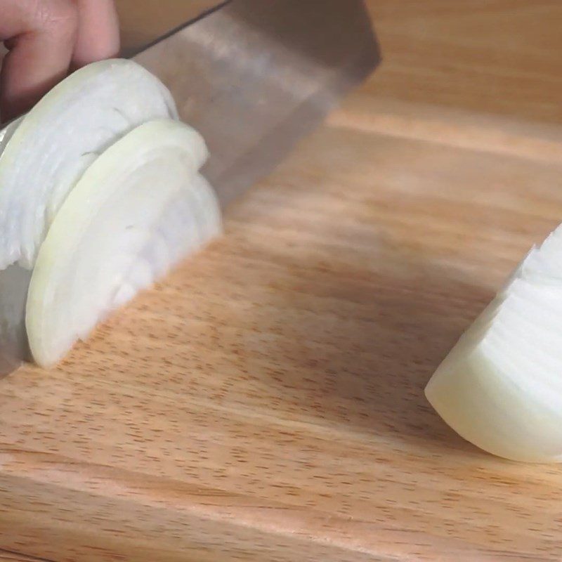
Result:
<svg viewBox="0 0 562 562">
<path fill-rule="evenodd" d="M 0 266 L 32 269 L 25 325 L 39 365 L 220 233 L 199 172 L 207 146 L 176 118 L 156 77 L 110 60 L 0 131 Z"/>
</svg>

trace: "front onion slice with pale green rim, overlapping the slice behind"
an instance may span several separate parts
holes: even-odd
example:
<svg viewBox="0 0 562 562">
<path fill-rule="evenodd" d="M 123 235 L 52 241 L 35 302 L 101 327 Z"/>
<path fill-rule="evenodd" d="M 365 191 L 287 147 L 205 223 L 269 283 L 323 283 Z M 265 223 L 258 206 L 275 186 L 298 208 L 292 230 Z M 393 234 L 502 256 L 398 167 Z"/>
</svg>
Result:
<svg viewBox="0 0 562 562">
<path fill-rule="evenodd" d="M 39 365 L 221 230 L 216 196 L 198 169 L 194 129 L 159 119 L 134 129 L 86 170 L 56 214 L 30 284 L 26 327 Z"/>
</svg>

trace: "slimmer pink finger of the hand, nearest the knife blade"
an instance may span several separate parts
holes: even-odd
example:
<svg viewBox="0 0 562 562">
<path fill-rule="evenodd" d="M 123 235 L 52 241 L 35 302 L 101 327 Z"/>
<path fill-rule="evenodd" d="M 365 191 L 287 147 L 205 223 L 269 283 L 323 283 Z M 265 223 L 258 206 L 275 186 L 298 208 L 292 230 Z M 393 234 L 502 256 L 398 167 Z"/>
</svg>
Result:
<svg viewBox="0 0 562 562">
<path fill-rule="evenodd" d="M 83 66 L 119 54 L 119 20 L 113 0 L 74 0 L 79 13 L 73 64 Z"/>
</svg>

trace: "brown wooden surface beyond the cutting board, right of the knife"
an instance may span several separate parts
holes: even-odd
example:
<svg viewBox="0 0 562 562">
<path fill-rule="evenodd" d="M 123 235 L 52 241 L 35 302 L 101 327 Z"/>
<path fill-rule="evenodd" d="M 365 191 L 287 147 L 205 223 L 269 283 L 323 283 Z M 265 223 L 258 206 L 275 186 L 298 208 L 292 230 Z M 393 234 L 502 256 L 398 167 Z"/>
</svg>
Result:
<svg viewBox="0 0 562 562">
<path fill-rule="evenodd" d="M 556 0 L 367 0 L 385 64 L 377 97 L 562 123 Z"/>
</svg>

